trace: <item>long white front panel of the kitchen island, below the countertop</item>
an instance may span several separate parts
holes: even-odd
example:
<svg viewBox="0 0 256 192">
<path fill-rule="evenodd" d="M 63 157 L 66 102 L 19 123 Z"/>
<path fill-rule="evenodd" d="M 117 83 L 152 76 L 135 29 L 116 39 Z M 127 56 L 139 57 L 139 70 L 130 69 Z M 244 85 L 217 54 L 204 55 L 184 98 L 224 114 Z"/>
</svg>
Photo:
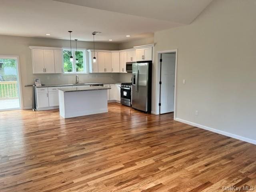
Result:
<svg viewBox="0 0 256 192">
<path fill-rule="evenodd" d="M 64 92 L 64 118 L 108 112 L 107 90 Z"/>
</svg>

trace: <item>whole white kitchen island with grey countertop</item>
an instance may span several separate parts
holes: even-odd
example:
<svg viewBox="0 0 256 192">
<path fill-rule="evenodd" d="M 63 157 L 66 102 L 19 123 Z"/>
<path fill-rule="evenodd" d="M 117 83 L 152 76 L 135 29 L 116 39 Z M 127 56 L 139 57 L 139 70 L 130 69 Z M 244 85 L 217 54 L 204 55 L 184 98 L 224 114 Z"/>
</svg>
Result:
<svg viewBox="0 0 256 192">
<path fill-rule="evenodd" d="M 78 117 L 108 112 L 109 87 L 59 88 L 60 116 Z"/>
</svg>

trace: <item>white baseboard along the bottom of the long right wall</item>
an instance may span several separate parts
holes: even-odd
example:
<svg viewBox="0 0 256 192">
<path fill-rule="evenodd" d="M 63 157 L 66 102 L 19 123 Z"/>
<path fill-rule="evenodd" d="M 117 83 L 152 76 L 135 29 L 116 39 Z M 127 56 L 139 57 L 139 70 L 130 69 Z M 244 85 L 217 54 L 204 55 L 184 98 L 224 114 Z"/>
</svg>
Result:
<svg viewBox="0 0 256 192">
<path fill-rule="evenodd" d="M 252 143 L 252 144 L 256 145 L 256 140 L 253 140 L 253 139 L 250 139 L 250 138 L 246 138 L 246 137 L 239 136 L 239 135 L 236 135 L 236 134 L 232 134 L 232 133 L 229 133 L 229 132 L 225 132 L 225 131 L 222 131 L 222 130 L 210 128 L 210 127 L 200 125 L 200 124 L 197 124 L 197 123 L 193 123 L 193 122 L 183 120 L 183 119 L 180 119 L 180 118 L 175 118 L 174 120 L 185 123 L 185 124 L 189 124 L 189 125 L 192 125 L 192 126 L 204 129 L 204 130 L 208 130 L 208 131 L 211 131 L 211 132 L 214 132 L 214 133 L 218 133 L 218 134 L 221 134 L 221 135 L 225 135 L 225 136 L 228 136 L 228 137 L 232 137 L 232 138 L 235 138 L 235 139 L 238 139 L 238 140 L 245 141 L 245 142 Z"/>
</svg>

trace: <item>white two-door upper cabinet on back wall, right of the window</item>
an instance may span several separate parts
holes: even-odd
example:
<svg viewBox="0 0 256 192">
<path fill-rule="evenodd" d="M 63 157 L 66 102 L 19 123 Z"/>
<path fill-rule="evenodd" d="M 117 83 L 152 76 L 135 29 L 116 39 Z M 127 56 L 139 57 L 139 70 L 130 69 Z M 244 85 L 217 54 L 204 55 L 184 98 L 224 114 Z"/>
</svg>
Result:
<svg viewBox="0 0 256 192">
<path fill-rule="evenodd" d="M 98 72 L 99 73 L 112 72 L 110 52 L 98 52 Z"/>
</svg>

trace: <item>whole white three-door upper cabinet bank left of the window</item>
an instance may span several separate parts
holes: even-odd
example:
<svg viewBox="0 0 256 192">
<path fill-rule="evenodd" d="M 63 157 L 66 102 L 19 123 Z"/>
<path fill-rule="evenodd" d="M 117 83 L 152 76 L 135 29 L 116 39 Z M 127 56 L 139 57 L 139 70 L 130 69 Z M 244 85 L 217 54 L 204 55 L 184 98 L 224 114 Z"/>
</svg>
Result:
<svg viewBox="0 0 256 192">
<path fill-rule="evenodd" d="M 34 74 L 62 73 L 62 49 L 32 47 L 32 67 Z"/>
</svg>

